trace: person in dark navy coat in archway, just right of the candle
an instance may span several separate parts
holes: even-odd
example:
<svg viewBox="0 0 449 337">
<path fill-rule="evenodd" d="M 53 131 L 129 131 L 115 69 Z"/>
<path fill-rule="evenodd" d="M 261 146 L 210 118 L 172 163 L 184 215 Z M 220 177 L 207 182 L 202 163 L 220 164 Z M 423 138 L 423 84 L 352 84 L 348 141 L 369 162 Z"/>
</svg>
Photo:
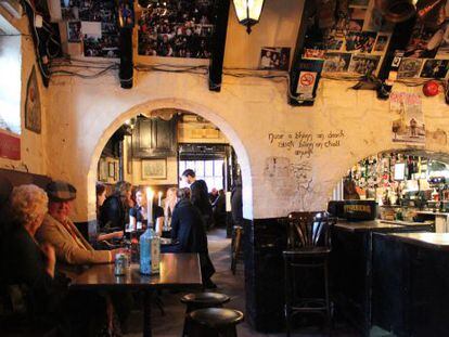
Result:
<svg viewBox="0 0 449 337">
<path fill-rule="evenodd" d="M 210 277 L 215 268 L 207 249 L 207 235 L 204 218 L 190 202 L 190 189 L 180 189 L 177 193 L 178 204 L 171 218 L 172 245 L 162 246 L 162 252 L 197 252 L 205 288 L 216 288 Z"/>
</svg>

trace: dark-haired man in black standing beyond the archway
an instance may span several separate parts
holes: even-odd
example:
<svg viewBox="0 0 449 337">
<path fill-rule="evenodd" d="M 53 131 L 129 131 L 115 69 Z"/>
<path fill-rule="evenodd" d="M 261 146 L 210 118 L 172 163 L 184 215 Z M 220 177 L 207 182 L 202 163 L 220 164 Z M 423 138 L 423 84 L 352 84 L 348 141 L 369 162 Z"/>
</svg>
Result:
<svg viewBox="0 0 449 337">
<path fill-rule="evenodd" d="M 209 228 L 213 221 L 213 208 L 209 202 L 207 184 L 204 180 L 196 180 L 195 171 L 187 169 L 182 172 L 182 180 L 190 185 L 191 202 L 195 206 Z"/>
</svg>

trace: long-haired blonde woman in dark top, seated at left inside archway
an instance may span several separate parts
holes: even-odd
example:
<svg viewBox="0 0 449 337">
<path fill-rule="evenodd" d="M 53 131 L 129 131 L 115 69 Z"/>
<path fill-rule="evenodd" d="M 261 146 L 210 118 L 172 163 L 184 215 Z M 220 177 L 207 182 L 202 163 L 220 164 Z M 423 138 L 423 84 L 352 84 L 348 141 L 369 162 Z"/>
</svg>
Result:
<svg viewBox="0 0 449 337">
<path fill-rule="evenodd" d="M 125 231 L 125 224 L 129 220 L 129 209 L 134 207 L 131 199 L 132 185 L 126 181 L 119 181 L 115 185 L 114 194 L 104 202 L 100 221 L 102 229 L 120 229 Z"/>
</svg>

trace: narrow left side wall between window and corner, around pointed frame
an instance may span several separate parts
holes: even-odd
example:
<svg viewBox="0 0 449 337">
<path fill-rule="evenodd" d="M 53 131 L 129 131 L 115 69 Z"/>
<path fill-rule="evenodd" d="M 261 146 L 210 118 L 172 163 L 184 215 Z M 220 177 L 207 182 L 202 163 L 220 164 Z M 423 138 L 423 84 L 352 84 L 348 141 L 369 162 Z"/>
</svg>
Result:
<svg viewBox="0 0 449 337">
<path fill-rule="evenodd" d="M 42 130 L 40 134 L 31 132 L 25 129 L 25 99 L 26 99 L 26 86 L 28 77 L 31 74 L 33 66 L 36 66 L 38 72 L 36 57 L 34 53 L 33 39 L 29 36 L 28 21 L 26 16 L 21 20 L 14 18 L 11 14 L 0 8 L 0 15 L 7 18 L 21 34 L 21 51 L 22 51 L 22 94 L 21 94 L 21 160 L 10 160 L 0 158 L 0 168 L 28 171 L 30 173 L 46 174 L 46 148 L 44 138 L 47 133 L 46 128 L 46 106 L 47 106 L 47 89 L 42 86 L 40 74 L 38 73 L 38 85 L 41 102 L 41 118 Z"/>
</svg>

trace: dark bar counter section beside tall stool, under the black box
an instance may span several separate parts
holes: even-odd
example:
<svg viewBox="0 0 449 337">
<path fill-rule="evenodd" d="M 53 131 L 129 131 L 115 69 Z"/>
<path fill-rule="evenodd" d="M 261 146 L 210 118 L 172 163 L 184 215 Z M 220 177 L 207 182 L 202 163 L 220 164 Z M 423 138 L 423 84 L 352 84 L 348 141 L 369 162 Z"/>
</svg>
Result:
<svg viewBox="0 0 449 337">
<path fill-rule="evenodd" d="M 433 230 L 432 222 L 339 220 L 335 224 L 332 234 L 332 290 L 336 309 L 360 330 L 360 335 L 369 336 L 372 326 L 373 234 Z"/>
</svg>

